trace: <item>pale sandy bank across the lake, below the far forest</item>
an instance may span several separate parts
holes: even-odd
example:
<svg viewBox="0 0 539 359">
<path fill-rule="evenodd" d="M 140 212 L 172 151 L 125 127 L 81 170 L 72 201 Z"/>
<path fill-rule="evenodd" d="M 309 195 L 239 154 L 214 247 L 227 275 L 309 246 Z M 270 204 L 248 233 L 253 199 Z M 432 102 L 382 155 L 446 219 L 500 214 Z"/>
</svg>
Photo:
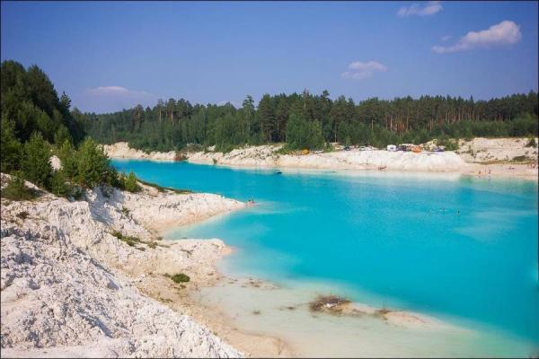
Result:
<svg viewBox="0 0 539 359">
<path fill-rule="evenodd" d="M 188 162 L 245 168 L 295 168 L 353 171 L 453 172 L 479 177 L 537 180 L 537 147 L 526 138 L 475 138 L 460 142 L 456 152 L 403 153 L 388 151 L 336 151 L 331 153 L 279 154 L 282 144 L 247 146 L 230 153 L 186 153 Z M 171 153 L 144 153 L 127 143 L 105 145 L 112 158 L 172 161 Z M 535 163 L 535 168 L 532 166 Z"/>
</svg>

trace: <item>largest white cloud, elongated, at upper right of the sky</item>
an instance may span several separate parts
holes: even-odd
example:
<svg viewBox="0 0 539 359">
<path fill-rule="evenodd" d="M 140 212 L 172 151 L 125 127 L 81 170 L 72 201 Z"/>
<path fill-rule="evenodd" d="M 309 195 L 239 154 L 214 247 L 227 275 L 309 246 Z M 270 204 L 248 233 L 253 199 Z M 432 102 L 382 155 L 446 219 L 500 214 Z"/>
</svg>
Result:
<svg viewBox="0 0 539 359">
<path fill-rule="evenodd" d="M 488 30 L 470 31 L 453 46 L 433 46 L 432 51 L 438 54 L 472 50 L 473 48 L 490 48 L 500 45 L 516 44 L 522 39 L 520 26 L 508 20 L 490 26 Z"/>
</svg>

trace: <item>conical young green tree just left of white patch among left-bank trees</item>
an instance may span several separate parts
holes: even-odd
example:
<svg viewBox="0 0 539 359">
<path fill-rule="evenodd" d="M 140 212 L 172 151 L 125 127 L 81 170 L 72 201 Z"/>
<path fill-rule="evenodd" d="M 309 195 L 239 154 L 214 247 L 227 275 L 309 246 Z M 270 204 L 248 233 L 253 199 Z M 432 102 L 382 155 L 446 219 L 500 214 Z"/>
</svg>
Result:
<svg viewBox="0 0 539 359">
<path fill-rule="evenodd" d="M 52 178 L 49 144 L 39 132 L 34 132 L 30 140 L 24 144 L 23 153 L 21 170 L 24 179 L 37 186 L 49 188 Z"/>
</svg>

